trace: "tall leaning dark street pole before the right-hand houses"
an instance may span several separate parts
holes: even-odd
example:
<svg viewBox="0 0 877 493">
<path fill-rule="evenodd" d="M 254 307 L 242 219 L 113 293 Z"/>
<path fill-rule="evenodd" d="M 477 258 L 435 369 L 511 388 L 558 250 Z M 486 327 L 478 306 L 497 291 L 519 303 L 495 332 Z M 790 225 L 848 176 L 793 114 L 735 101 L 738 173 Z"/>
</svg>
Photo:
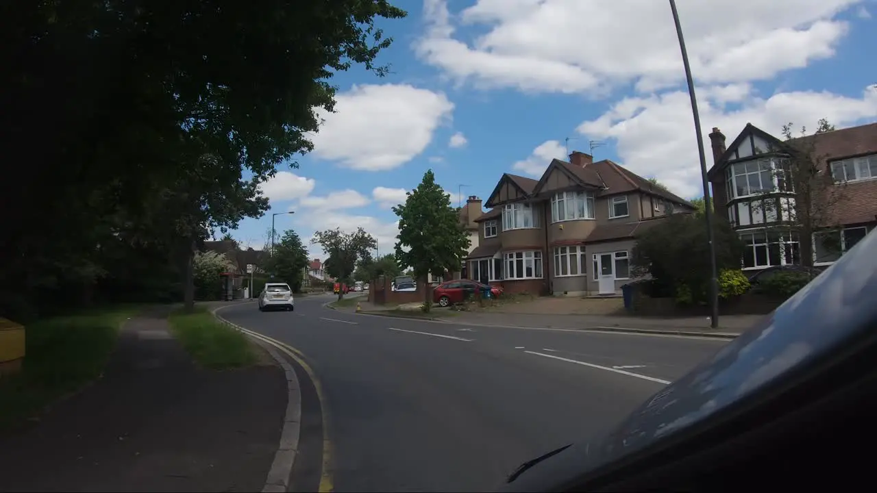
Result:
<svg viewBox="0 0 877 493">
<path fill-rule="evenodd" d="M 682 37 L 682 25 L 679 22 L 679 11 L 676 10 L 675 0 L 670 1 L 670 10 L 673 11 L 673 20 L 676 24 L 676 35 L 679 37 L 679 48 L 682 52 L 682 64 L 685 66 L 685 78 L 688 82 L 688 96 L 691 97 L 691 112 L 695 117 L 695 135 L 697 137 L 697 151 L 701 158 L 701 181 L 703 185 L 703 204 L 706 204 L 706 225 L 709 238 L 709 309 L 712 328 L 718 327 L 718 275 L 716 268 L 716 239 L 712 227 L 712 201 L 709 200 L 709 181 L 707 180 L 707 158 L 703 152 L 703 133 L 701 131 L 701 117 L 697 112 L 697 98 L 695 97 L 695 82 L 691 76 L 691 65 L 688 64 L 688 50 L 685 49 L 685 38 Z"/>
</svg>

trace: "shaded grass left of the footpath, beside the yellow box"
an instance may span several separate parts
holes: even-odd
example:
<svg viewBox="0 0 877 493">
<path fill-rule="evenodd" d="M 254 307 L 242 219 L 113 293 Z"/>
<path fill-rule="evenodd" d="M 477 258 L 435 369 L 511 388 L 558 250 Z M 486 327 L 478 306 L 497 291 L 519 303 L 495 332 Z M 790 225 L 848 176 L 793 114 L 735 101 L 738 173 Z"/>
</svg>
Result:
<svg viewBox="0 0 877 493">
<path fill-rule="evenodd" d="M 118 328 L 134 305 L 46 318 L 25 326 L 25 361 L 17 375 L 0 377 L 0 430 L 31 418 L 103 372 Z"/>
</svg>

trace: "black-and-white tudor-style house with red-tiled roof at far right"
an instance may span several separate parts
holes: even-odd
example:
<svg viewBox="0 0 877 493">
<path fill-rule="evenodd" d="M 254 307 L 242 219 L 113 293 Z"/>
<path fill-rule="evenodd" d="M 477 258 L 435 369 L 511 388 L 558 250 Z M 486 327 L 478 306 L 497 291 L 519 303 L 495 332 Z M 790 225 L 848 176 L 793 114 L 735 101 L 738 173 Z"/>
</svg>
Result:
<svg viewBox="0 0 877 493">
<path fill-rule="evenodd" d="M 746 124 L 730 146 L 717 128 L 709 134 L 714 165 L 709 170 L 715 210 L 731 222 L 744 243 L 743 269 L 800 265 L 795 190 L 784 166 L 788 146 Z M 811 139 L 817 164 L 837 184 L 819 196 L 831 197 L 815 217 L 813 265 L 831 265 L 877 225 L 877 124 L 818 133 Z M 818 200 L 818 199 L 817 199 Z"/>
</svg>

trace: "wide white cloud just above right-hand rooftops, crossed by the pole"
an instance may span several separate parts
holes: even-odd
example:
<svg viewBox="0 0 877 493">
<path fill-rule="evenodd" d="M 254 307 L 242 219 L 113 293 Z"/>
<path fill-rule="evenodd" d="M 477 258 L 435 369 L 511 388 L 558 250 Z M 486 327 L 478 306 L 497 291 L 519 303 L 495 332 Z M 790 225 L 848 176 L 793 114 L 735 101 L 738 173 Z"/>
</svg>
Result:
<svg viewBox="0 0 877 493">
<path fill-rule="evenodd" d="M 819 118 L 838 127 L 857 125 L 877 118 L 877 89 L 865 89 L 860 97 L 829 92 L 778 93 L 768 98 L 741 93 L 740 88 L 707 88 L 698 93 L 707 168 L 713 164 L 709 132 L 718 127 L 727 138 L 737 137 L 746 123 L 780 136 L 782 125 L 816 127 Z M 737 103 L 728 109 L 723 95 L 733 94 Z M 579 132 L 589 139 L 616 139 L 622 164 L 643 176 L 655 176 L 681 196 L 701 196 L 700 165 L 688 92 L 628 97 L 614 104 L 599 118 L 586 121 Z"/>
</svg>

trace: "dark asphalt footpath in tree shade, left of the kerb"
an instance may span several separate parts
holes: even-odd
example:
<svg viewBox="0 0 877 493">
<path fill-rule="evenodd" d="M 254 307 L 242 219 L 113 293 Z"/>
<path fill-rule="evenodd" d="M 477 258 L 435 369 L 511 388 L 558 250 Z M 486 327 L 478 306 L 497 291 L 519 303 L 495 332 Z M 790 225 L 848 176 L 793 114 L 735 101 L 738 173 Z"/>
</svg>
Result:
<svg viewBox="0 0 877 493">
<path fill-rule="evenodd" d="M 0 491 L 259 491 L 287 404 L 282 369 L 196 368 L 166 312 L 129 321 L 103 378 L 0 438 Z"/>
</svg>

